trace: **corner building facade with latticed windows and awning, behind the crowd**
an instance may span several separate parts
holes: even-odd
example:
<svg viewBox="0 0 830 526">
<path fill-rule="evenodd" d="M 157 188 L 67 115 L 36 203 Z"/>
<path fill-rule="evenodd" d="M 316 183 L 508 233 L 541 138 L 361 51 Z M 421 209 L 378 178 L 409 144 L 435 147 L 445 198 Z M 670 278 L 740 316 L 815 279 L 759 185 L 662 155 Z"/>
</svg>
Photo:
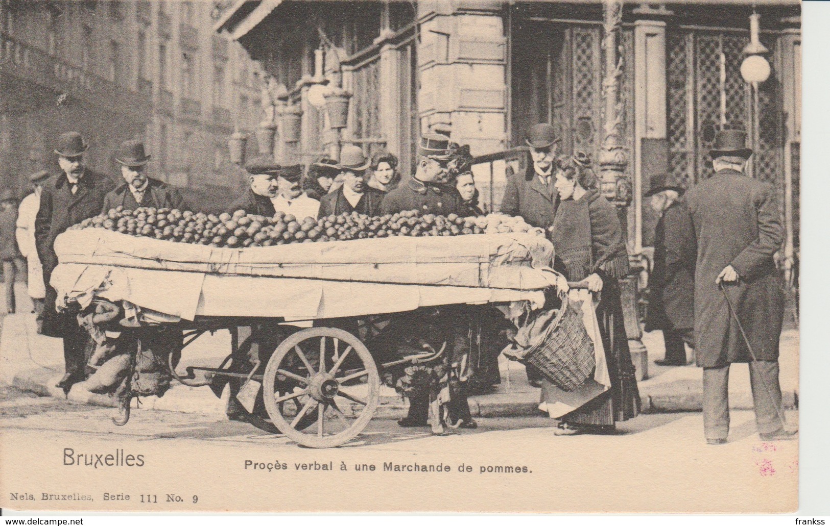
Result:
<svg viewBox="0 0 830 526">
<path fill-rule="evenodd" d="M 753 13 L 771 70 L 758 84 L 740 71 Z M 656 222 L 642 196 L 660 172 L 686 187 L 708 177 L 727 124 L 749 132 L 751 175 L 778 190 L 792 283 L 800 27 L 791 0 L 238 0 L 216 25 L 272 76 L 275 152 L 306 163 L 353 143 L 397 153 L 408 172 L 418 134 L 450 129 L 471 145 L 482 205 L 497 211 L 527 158 L 525 131 L 554 124 L 563 153 L 595 160 L 627 228 L 634 272 L 623 300 L 636 353 Z"/>
</svg>

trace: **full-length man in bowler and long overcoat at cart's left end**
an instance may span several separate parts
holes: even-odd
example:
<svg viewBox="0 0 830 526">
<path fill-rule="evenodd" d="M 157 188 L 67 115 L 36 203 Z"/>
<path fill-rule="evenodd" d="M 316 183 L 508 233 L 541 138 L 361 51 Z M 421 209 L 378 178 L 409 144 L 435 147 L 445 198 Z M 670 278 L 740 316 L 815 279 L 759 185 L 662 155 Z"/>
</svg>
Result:
<svg viewBox="0 0 830 526">
<path fill-rule="evenodd" d="M 72 384 L 85 379 L 84 347 L 88 334 L 78 326 L 74 314 L 59 314 L 55 309 L 56 292 L 49 286 L 52 270 L 57 266 L 55 238 L 70 226 L 98 215 L 104 197 L 113 187 L 110 178 L 85 167 L 84 152 L 88 148 L 77 132 L 67 132 L 58 138 L 55 153 L 61 173 L 43 184 L 41 206 L 35 219 L 37 256 L 43 265 L 46 285 L 43 334 L 63 338 L 66 374 L 57 387 L 65 392 L 69 392 Z"/>
</svg>

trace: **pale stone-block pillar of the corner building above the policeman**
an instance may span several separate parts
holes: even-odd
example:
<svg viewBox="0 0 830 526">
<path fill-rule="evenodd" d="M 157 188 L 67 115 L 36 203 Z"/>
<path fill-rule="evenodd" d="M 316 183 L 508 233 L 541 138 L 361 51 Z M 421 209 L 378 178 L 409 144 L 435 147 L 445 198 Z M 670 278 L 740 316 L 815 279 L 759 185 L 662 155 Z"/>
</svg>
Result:
<svg viewBox="0 0 830 526">
<path fill-rule="evenodd" d="M 507 46 L 500 2 L 418 2 L 421 130 L 450 124 L 473 155 L 506 149 Z"/>
</svg>

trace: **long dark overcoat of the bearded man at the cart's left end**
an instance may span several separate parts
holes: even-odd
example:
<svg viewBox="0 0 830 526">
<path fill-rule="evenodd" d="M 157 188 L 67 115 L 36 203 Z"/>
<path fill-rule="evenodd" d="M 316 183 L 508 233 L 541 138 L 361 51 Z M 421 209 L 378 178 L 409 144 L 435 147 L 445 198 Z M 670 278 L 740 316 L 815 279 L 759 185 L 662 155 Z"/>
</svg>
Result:
<svg viewBox="0 0 830 526">
<path fill-rule="evenodd" d="M 43 333 L 47 336 L 62 337 L 76 332 L 78 327 L 74 315 L 58 314 L 55 311 L 56 293 L 49 285 L 52 270 L 57 266 L 55 238 L 70 226 L 97 216 L 104 204 L 104 197 L 113 186 L 110 178 L 89 168 L 79 181 L 75 194 L 71 192 L 65 173 L 53 175 L 43 183 L 41 207 L 35 218 L 35 245 L 46 283 Z"/>
</svg>

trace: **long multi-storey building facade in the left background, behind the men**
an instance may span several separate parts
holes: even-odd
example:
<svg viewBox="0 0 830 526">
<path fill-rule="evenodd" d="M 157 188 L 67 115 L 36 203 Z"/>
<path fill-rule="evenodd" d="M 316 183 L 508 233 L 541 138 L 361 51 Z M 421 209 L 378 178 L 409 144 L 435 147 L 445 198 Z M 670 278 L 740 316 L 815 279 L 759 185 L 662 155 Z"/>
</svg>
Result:
<svg viewBox="0 0 830 526">
<path fill-rule="evenodd" d="M 120 178 L 114 154 L 142 139 L 150 174 L 200 209 L 244 183 L 229 158 L 235 129 L 256 129 L 261 75 L 237 43 L 212 31 L 212 2 L 2 2 L 3 186 L 56 170 L 52 144 L 75 129 L 91 168 Z M 248 148 L 256 153 L 256 143 Z"/>
</svg>

